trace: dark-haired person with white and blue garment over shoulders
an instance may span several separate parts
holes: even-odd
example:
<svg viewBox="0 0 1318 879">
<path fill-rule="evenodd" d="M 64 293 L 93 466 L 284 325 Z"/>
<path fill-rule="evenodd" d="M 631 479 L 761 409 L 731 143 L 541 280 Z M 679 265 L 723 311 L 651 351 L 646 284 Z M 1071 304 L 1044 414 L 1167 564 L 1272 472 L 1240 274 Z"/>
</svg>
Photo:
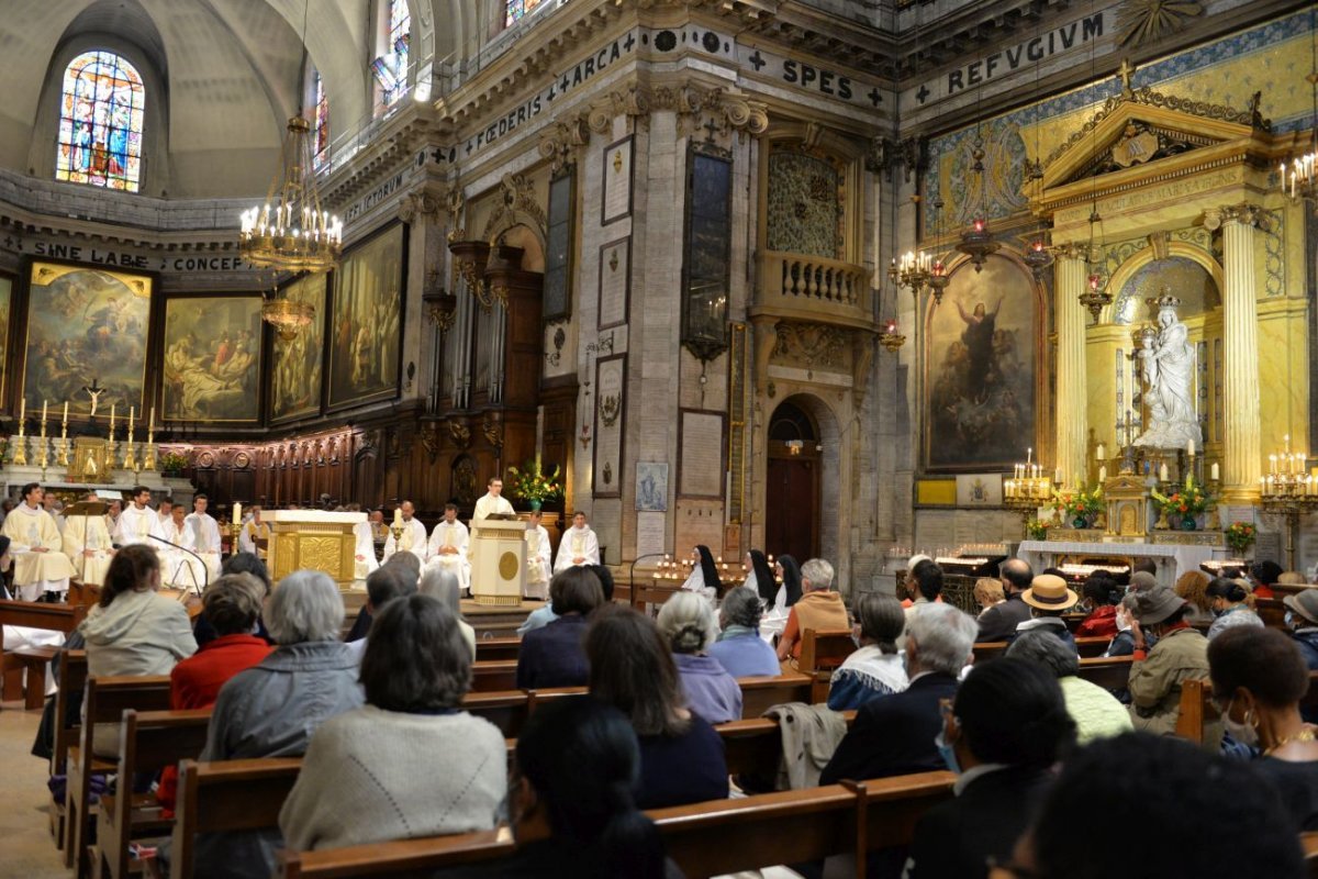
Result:
<svg viewBox="0 0 1318 879">
<path fill-rule="evenodd" d="M 833 672 L 828 706 L 834 712 L 900 693 L 908 684 L 905 664 L 898 652 L 898 638 L 907 622 L 902 602 L 892 596 L 866 592 L 855 600 L 854 610 L 853 633 L 861 647 Z"/>
</svg>

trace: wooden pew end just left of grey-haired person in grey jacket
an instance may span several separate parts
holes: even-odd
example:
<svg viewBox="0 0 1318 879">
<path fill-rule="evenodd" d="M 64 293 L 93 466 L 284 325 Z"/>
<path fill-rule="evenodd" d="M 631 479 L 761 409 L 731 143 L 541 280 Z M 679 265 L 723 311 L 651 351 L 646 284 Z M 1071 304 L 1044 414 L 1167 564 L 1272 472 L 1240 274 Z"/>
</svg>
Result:
<svg viewBox="0 0 1318 879">
<path fill-rule="evenodd" d="M 113 796 L 103 796 L 96 805 L 96 845 L 92 846 L 91 859 L 99 878 L 128 879 L 130 870 L 141 872 L 141 862 L 128 854 L 129 843 L 134 838 L 163 836 L 174 821 L 163 817 L 153 793 L 133 793 L 132 779 L 138 772 L 156 774 L 200 755 L 210 722 L 210 708 L 124 712 L 119 789 Z"/>
</svg>

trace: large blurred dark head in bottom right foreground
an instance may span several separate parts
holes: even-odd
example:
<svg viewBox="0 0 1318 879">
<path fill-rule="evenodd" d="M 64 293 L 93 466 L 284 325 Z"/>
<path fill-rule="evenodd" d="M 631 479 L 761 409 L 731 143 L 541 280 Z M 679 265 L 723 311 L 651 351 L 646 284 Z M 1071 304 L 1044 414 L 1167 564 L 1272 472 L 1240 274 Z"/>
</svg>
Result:
<svg viewBox="0 0 1318 879">
<path fill-rule="evenodd" d="M 1300 837 L 1280 814 L 1276 788 L 1239 760 L 1177 738 L 1099 739 L 1062 763 L 994 875 L 1300 879 Z"/>
</svg>

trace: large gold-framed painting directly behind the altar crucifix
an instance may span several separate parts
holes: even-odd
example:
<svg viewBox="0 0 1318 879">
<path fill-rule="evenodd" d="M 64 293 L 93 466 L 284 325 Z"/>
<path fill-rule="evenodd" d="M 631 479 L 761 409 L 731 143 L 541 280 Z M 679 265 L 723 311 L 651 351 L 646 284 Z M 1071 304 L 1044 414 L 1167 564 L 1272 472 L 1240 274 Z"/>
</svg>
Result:
<svg viewBox="0 0 1318 879">
<path fill-rule="evenodd" d="M 22 393 L 29 406 L 69 402 L 87 415 L 111 405 L 142 407 L 152 318 L 149 275 L 33 262 L 28 294 L 28 356 Z M 94 389 L 88 391 L 87 389 Z"/>
</svg>

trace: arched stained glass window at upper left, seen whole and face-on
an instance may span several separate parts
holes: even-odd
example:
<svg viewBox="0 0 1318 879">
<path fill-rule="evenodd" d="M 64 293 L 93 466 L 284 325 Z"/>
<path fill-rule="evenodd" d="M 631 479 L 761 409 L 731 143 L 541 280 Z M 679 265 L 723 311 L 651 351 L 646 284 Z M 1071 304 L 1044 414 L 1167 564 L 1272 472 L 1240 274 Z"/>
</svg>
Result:
<svg viewBox="0 0 1318 879">
<path fill-rule="evenodd" d="M 136 192 L 146 91 L 128 61 L 86 51 L 65 70 L 55 179 Z"/>
</svg>

